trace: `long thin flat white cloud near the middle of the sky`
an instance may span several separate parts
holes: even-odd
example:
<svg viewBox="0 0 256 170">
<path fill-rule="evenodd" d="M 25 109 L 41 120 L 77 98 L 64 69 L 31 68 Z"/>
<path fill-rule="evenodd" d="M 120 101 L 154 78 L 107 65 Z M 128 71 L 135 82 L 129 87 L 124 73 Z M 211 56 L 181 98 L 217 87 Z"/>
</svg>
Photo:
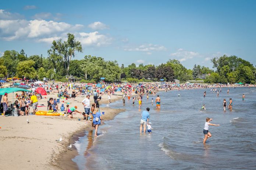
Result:
<svg viewBox="0 0 256 170">
<path fill-rule="evenodd" d="M 144 51 L 144 52 L 150 52 L 150 51 L 163 51 L 166 50 L 166 47 L 162 45 L 153 45 L 153 44 L 144 44 L 139 47 L 135 48 L 125 48 L 124 51 Z"/>
</svg>

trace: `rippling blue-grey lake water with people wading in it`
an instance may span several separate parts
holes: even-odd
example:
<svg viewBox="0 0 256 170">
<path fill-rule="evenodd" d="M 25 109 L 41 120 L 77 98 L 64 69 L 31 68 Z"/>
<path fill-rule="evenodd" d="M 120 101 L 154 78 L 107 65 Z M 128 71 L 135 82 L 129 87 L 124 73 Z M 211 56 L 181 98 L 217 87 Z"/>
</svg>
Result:
<svg viewBox="0 0 256 170">
<path fill-rule="evenodd" d="M 99 126 L 96 139 L 94 131 L 89 131 L 75 142 L 79 155 L 72 160 L 79 169 L 256 169 L 256 88 L 230 88 L 229 95 L 227 88 L 222 88 L 219 97 L 210 88 L 157 94 L 160 110 L 151 105 L 151 98 L 156 98 L 152 95 L 149 100 L 144 95 L 141 110 L 136 101 L 135 106 L 128 100 L 125 106 L 121 100 L 104 105 L 125 108 L 126 112 Z M 227 104 L 232 98 L 232 112 L 228 108 L 223 111 L 223 98 Z M 203 104 L 205 111 L 200 110 Z M 152 134 L 140 134 L 141 112 L 147 107 Z M 209 127 L 212 137 L 203 144 L 206 117 L 220 126 Z"/>
</svg>

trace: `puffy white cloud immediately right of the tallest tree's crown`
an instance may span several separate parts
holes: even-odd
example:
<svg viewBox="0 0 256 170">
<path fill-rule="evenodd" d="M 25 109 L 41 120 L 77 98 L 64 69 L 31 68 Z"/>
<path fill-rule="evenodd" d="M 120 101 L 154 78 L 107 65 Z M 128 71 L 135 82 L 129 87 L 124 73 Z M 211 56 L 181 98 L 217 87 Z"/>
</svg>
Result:
<svg viewBox="0 0 256 170">
<path fill-rule="evenodd" d="M 107 46 L 111 44 L 112 38 L 102 35 L 99 32 L 80 32 L 77 39 L 84 45 Z"/>
</svg>

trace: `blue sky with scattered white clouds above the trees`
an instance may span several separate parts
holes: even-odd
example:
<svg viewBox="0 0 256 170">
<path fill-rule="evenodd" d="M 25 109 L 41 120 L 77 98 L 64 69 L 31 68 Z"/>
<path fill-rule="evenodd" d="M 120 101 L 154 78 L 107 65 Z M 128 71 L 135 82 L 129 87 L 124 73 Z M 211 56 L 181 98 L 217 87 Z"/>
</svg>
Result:
<svg viewBox="0 0 256 170">
<path fill-rule="evenodd" d="M 73 33 L 85 55 L 186 68 L 212 68 L 213 57 L 236 55 L 256 65 L 254 0 L 9 0 L 0 2 L 0 56 L 6 50 L 47 57 L 53 40 Z"/>
</svg>

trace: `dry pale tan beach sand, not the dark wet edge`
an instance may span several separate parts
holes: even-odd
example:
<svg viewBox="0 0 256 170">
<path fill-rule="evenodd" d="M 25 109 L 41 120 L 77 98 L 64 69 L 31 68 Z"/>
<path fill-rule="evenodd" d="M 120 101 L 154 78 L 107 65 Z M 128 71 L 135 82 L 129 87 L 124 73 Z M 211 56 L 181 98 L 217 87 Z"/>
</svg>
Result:
<svg viewBox="0 0 256 170">
<path fill-rule="evenodd" d="M 47 98 L 39 100 L 39 105 L 47 106 L 47 100 L 56 96 L 57 94 L 43 96 Z M 71 99 L 60 100 L 59 105 L 64 104 L 66 107 L 67 102 L 70 102 L 71 107 L 76 105 L 78 110 L 83 112 L 82 100 L 84 98 L 77 97 L 75 101 Z M 112 102 L 120 98 L 121 96 L 111 95 Z M 12 94 L 8 95 L 8 100 L 12 101 Z M 93 97 L 90 97 L 90 102 L 93 103 Z M 106 94 L 102 96 L 100 103 L 107 103 Z M 103 121 L 113 119 L 117 113 L 124 111 L 102 107 L 100 109 L 105 112 Z M 46 111 L 47 107 L 39 107 L 38 110 Z M 65 155 L 65 153 L 75 154 L 75 151 L 72 152 L 67 149 L 67 146 L 72 142 L 70 141 L 72 135 L 79 130 L 92 129 L 90 121 L 78 120 L 78 118 L 83 118 L 81 114 L 73 116 L 73 119 L 63 116 L 0 116 L 0 169 L 63 169 L 58 165 L 57 160 L 60 155 Z M 27 118 L 29 123 L 26 121 Z M 56 140 L 60 137 L 63 141 L 57 142 Z"/>
</svg>

